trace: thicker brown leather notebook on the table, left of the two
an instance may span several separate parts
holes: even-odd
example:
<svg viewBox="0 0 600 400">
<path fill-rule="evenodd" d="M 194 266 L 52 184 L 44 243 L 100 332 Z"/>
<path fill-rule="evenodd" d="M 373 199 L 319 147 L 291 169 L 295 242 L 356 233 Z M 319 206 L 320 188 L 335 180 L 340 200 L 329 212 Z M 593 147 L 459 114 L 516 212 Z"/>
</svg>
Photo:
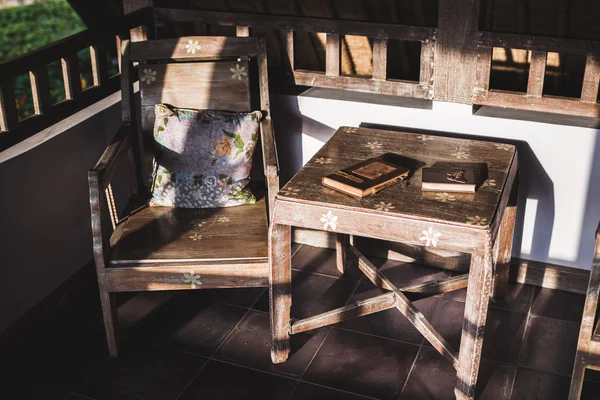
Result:
<svg viewBox="0 0 600 400">
<path fill-rule="evenodd" d="M 385 153 L 324 176 L 323 185 L 340 192 L 365 197 L 408 177 L 410 170 L 394 163 L 396 154 Z"/>
</svg>

